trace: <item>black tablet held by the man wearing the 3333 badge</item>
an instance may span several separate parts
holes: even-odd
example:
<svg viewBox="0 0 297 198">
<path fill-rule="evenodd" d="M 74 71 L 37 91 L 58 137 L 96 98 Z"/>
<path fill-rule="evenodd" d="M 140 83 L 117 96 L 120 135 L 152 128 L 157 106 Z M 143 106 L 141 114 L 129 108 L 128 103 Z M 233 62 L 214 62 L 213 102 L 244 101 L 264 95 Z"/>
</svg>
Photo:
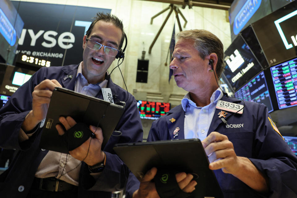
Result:
<svg viewBox="0 0 297 198">
<path fill-rule="evenodd" d="M 193 174 L 197 185 L 190 197 L 223 197 L 199 139 L 116 144 L 114 151 L 139 180 L 152 167 L 172 169 Z"/>
</svg>

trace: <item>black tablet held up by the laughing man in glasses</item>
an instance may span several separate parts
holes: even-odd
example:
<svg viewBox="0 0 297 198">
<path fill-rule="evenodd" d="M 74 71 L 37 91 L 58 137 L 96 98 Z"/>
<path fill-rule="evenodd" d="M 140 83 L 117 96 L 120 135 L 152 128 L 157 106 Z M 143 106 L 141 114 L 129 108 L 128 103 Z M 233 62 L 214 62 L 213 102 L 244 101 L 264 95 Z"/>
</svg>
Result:
<svg viewBox="0 0 297 198">
<path fill-rule="evenodd" d="M 59 117 L 71 116 L 77 123 L 98 125 L 102 129 L 103 149 L 123 112 L 124 107 L 121 105 L 56 87 L 50 99 L 39 146 L 42 149 L 68 153 L 67 146 L 55 126 L 60 123 Z"/>
</svg>

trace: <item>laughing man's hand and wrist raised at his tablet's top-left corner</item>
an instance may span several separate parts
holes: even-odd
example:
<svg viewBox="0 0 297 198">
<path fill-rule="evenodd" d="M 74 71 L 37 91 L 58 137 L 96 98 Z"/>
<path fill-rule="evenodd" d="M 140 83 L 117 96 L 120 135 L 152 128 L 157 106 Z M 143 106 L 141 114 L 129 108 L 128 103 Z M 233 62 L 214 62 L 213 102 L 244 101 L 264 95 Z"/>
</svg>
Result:
<svg viewBox="0 0 297 198">
<path fill-rule="evenodd" d="M 43 80 L 32 93 L 32 110 L 26 116 L 22 129 L 31 131 L 42 119 L 46 117 L 49 107 L 50 97 L 55 87 L 62 87 L 57 80 Z"/>
</svg>

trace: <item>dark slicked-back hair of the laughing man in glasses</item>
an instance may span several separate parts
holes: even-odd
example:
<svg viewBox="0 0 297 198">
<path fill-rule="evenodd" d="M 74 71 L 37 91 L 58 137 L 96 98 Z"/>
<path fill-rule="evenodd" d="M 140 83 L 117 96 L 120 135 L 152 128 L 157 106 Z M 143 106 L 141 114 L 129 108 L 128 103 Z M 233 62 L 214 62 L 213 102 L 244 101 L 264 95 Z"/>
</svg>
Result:
<svg viewBox="0 0 297 198">
<path fill-rule="evenodd" d="M 125 38 L 123 22 L 118 17 L 116 17 L 115 15 L 111 15 L 109 13 L 103 13 L 103 12 L 98 12 L 96 14 L 96 16 L 93 17 L 93 19 L 94 19 L 93 22 L 91 23 L 90 27 L 88 28 L 88 30 L 86 32 L 87 37 L 91 34 L 94 25 L 98 21 L 113 23 L 115 27 L 119 28 L 122 31 L 121 42 L 120 42 L 120 45 L 118 46 L 118 49 L 121 49 L 122 46 L 123 46 L 123 43 L 124 43 L 124 38 Z"/>
</svg>

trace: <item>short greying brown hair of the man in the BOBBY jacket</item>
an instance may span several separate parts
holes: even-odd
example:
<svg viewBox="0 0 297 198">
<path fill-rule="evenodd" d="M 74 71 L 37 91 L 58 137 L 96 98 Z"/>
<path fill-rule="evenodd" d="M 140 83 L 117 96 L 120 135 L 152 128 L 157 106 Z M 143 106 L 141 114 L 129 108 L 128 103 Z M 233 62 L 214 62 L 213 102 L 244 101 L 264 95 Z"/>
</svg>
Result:
<svg viewBox="0 0 297 198">
<path fill-rule="evenodd" d="M 225 69 L 224 62 L 224 46 L 221 40 L 213 33 L 207 30 L 186 30 L 179 32 L 176 39 L 192 39 L 194 41 L 194 48 L 199 51 L 200 57 L 204 60 L 205 56 L 216 53 L 217 54 L 217 68 L 216 73 L 218 78 Z"/>
</svg>

